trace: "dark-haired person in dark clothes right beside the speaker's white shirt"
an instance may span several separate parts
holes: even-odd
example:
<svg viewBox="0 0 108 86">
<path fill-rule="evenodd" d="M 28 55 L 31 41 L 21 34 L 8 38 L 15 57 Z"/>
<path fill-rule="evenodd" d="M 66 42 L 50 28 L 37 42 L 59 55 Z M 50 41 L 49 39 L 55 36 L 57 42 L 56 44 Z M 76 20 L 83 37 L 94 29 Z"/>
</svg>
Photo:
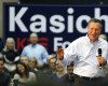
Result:
<svg viewBox="0 0 108 86">
<path fill-rule="evenodd" d="M 67 76 L 64 81 L 64 83 L 66 83 L 67 86 L 73 86 L 73 82 L 75 82 L 75 74 L 73 74 L 73 61 L 67 66 Z"/>
</svg>

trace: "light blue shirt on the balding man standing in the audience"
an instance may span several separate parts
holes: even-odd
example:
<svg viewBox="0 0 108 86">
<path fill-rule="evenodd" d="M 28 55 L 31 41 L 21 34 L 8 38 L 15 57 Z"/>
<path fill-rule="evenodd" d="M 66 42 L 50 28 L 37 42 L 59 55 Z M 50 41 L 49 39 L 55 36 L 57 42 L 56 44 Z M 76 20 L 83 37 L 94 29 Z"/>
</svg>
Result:
<svg viewBox="0 0 108 86">
<path fill-rule="evenodd" d="M 28 58 L 35 57 L 38 60 L 38 63 L 45 62 L 46 63 L 46 57 L 48 57 L 48 52 L 44 48 L 44 46 L 40 44 L 36 45 L 27 45 L 22 52 L 21 56 L 27 56 Z"/>
</svg>

